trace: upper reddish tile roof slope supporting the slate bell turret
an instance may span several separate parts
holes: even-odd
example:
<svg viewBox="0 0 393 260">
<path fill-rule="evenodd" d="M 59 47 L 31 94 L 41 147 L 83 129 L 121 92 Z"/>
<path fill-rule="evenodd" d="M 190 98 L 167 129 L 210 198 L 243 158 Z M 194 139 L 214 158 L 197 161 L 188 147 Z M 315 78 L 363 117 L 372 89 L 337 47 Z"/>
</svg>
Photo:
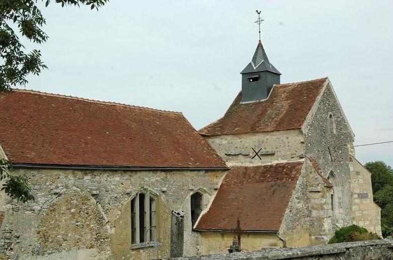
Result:
<svg viewBox="0 0 393 260">
<path fill-rule="evenodd" d="M 199 130 L 203 135 L 300 129 L 328 78 L 275 85 L 265 101 L 241 104 L 242 93 L 225 115 Z"/>
</svg>

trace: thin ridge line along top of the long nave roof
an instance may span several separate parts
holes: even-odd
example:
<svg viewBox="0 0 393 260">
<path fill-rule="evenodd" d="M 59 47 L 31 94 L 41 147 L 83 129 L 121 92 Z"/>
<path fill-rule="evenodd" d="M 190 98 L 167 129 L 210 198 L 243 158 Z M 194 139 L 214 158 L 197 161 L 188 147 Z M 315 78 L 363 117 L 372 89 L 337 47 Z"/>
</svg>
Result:
<svg viewBox="0 0 393 260">
<path fill-rule="evenodd" d="M 32 89 L 13 88 L 12 91 L 28 92 L 28 93 L 35 93 L 35 94 L 40 94 L 40 95 L 47 95 L 47 96 L 55 96 L 55 97 L 76 99 L 76 100 L 92 102 L 92 103 L 98 103 L 98 104 L 103 104 L 103 105 L 117 105 L 117 106 L 122 106 L 122 107 L 131 107 L 131 108 L 137 108 L 137 109 L 145 109 L 145 110 L 151 110 L 151 111 L 157 111 L 157 112 L 164 112 L 164 113 L 170 113 L 170 114 L 183 115 L 182 112 L 178 112 L 178 111 L 169 111 L 169 110 L 155 109 L 155 108 L 149 108 L 149 107 L 141 107 L 141 106 L 124 104 L 124 103 L 111 102 L 111 101 L 101 101 L 101 100 L 95 100 L 95 99 L 81 98 L 81 97 L 75 97 L 75 96 L 69 96 L 69 95 L 62 95 L 62 94 L 42 92 L 42 91 L 32 90 Z"/>
</svg>

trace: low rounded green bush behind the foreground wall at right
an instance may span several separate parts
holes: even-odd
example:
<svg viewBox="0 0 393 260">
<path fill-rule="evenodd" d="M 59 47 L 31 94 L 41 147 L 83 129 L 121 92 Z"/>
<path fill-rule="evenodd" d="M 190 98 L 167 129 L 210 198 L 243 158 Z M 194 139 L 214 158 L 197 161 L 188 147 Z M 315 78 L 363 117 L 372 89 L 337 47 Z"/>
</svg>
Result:
<svg viewBox="0 0 393 260">
<path fill-rule="evenodd" d="M 370 233 L 365 228 L 359 227 L 357 225 L 351 225 L 336 230 L 336 232 L 334 232 L 334 236 L 329 240 L 329 244 L 372 239 L 381 238 L 375 233 Z"/>
</svg>

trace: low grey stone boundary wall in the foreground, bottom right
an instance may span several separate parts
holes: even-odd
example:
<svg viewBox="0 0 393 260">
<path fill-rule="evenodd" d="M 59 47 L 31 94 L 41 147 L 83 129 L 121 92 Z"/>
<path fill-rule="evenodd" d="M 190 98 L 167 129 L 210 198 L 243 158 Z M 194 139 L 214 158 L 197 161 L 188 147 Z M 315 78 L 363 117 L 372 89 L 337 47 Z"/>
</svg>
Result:
<svg viewBox="0 0 393 260">
<path fill-rule="evenodd" d="M 176 260 L 393 260 L 393 240 L 370 240 L 301 248 L 263 249 Z M 175 260 L 175 259 L 173 259 Z"/>
</svg>

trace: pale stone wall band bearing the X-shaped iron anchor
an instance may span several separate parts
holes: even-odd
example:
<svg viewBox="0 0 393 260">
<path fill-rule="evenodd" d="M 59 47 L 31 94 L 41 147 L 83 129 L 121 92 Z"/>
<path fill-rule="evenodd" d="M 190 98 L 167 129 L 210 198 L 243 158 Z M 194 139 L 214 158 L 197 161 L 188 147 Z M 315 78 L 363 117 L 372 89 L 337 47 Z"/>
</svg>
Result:
<svg viewBox="0 0 393 260">
<path fill-rule="evenodd" d="M 205 139 L 228 166 L 255 166 L 304 157 L 304 139 L 299 130 L 205 136 Z M 260 158 L 252 148 L 259 151 Z"/>
</svg>

